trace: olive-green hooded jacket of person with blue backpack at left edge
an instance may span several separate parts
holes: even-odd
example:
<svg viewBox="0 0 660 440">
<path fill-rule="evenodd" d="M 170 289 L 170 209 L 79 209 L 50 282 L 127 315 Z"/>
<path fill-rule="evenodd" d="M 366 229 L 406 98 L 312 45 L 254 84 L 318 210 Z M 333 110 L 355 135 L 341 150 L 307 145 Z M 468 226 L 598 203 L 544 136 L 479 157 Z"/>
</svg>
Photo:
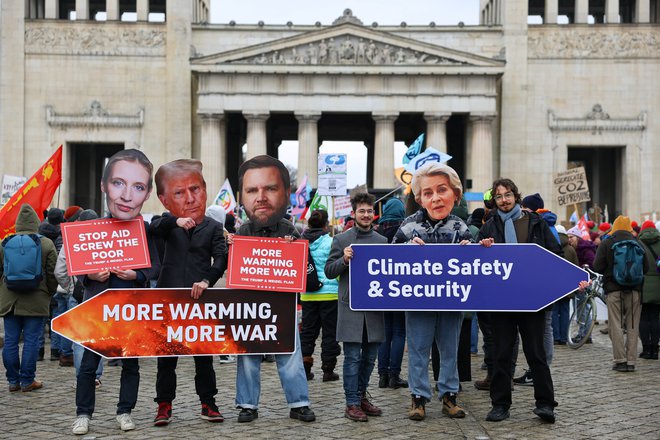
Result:
<svg viewBox="0 0 660 440">
<path fill-rule="evenodd" d="M 39 217 L 30 205 L 21 206 L 21 211 L 16 219 L 16 234 L 36 234 L 39 230 Z M 0 276 L 4 272 L 5 254 L 0 246 Z M 57 263 L 57 251 L 53 242 L 46 237 L 41 237 L 41 264 L 44 274 L 39 288 L 32 292 L 13 292 L 0 281 L 0 316 L 14 312 L 16 316 L 48 316 L 50 308 L 50 297 L 57 289 L 55 278 L 55 264 Z"/>
</svg>

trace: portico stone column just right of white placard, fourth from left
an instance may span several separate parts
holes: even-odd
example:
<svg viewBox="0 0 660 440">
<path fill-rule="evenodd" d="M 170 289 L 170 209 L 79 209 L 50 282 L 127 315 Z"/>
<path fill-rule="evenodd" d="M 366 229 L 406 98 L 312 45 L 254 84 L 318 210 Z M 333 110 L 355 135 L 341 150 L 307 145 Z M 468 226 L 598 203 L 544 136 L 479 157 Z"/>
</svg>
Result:
<svg viewBox="0 0 660 440">
<path fill-rule="evenodd" d="M 397 186 L 394 177 L 394 121 L 399 114 L 373 114 L 376 121 L 376 136 L 374 139 L 374 182 L 373 187 L 379 189 Z"/>
</svg>

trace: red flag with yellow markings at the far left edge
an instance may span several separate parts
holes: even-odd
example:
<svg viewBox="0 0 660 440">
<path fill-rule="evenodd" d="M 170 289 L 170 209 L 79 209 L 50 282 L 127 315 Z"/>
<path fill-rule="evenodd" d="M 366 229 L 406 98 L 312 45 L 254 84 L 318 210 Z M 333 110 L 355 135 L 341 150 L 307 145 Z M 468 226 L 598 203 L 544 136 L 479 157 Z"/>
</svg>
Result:
<svg viewBox="0 0 660 440">
<path fill-rule="evenodd" d="M 61 145 L 55 154 L 0 208 L 0 239 L 15 232 L 16 217 L 24 203 L 32 206 L 37 211 L 39 219 L 43 220 L 43 212 L 48 209 L 60 183 L 62 183 Z"/>
</svg>

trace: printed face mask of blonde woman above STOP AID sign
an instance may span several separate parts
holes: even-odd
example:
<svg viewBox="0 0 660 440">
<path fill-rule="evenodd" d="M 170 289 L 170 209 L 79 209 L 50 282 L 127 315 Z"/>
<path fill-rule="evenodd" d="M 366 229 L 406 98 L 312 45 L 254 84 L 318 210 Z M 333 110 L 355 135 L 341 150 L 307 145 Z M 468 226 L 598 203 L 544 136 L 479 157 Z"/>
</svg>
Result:
<svg viewBox="0 0 660 440">
<path fill-rule="evenodd" d="M 112 166 L 101 191 L 107 196 L 112 217 L 130 220 L 140 215 L 142 205 L 149 198 L 149 172 L 138 162 L 120 160 Z"/>
</svg>

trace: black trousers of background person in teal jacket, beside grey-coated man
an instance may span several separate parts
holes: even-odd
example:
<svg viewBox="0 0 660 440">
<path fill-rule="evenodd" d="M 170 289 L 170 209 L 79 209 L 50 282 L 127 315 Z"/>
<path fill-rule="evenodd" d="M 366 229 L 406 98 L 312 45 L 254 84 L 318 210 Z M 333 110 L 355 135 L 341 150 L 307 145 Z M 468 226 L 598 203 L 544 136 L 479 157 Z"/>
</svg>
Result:
<svg viewBox="0 0 660 440">
<path fill-rule="evenodd" d="M 303 322 L 300 348 L 303 356 L 314 354 L 316 339 L 321 329 L 321 362 L 336 364 L 341 348 L 337 342 L 337 301 L 301 301 Z"/>
</svg>

